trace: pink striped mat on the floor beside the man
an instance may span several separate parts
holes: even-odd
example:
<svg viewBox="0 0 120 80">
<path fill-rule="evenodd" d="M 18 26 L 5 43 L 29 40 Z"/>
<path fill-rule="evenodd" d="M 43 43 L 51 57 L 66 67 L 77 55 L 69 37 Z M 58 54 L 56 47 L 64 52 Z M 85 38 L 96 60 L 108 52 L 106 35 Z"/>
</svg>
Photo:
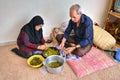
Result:
<svg viewBox="0 0 120 80">
<path fill-rule="evenodd" d="M 81 60 L 67 60 L 77 77 L 115 65 L 115 62 L 95 47 L 82 57 Z"/>
</svg>

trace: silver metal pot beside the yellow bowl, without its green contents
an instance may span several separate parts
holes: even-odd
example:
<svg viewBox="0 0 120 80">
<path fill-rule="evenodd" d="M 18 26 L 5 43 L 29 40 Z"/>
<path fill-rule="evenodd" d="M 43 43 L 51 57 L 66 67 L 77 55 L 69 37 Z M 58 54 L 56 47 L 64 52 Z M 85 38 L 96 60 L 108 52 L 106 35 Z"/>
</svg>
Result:
<svg viewBox="0 0 120 80">
<path fill-rule="evenodd" d="M 56 68 L 51 68 L 51 67 L 48 66 L 48 64 L 51 63 L 51 62 L 60 62 L 60 63 L 62 63 L 62 65 L 59 66 L 59 67 L 56 67 Z M 53 73 L 53 74 L 60 73 L 63 70 L 64 63 L 65 63 L 64 58 L 62 56 L 58 56 L 58 55 L 49 56 L 43 62 L 47 71 L 49 73 Z"/>
</svg>

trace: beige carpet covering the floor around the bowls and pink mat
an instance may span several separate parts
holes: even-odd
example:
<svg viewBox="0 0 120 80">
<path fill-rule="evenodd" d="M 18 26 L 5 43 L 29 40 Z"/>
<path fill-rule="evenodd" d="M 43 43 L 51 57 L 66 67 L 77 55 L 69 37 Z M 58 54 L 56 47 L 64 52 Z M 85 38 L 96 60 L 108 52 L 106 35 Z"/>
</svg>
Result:
<svg viewBox="0 0 120 80">
<path fill-rule="evenodd" d="M 0 46 L 0 80 L 120 80 L 120 63 L 116 62 L 116 65 L 112 67 L 89 73 L 80 78 L 66 62 L 61 73 L 42 74 L 40 69 L 29 67 L 25 58 L 11 52 L 14 47 L 17 45 Z M 82 62 L 85 64 L 85 61 Z"/>
</svg>

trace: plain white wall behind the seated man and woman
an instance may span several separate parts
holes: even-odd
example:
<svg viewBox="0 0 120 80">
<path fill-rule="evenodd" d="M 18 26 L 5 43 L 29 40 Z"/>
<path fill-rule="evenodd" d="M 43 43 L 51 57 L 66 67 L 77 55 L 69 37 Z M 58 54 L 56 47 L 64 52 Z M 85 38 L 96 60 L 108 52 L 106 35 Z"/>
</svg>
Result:
<svg viewBox="0 0 120 80">
<path fill-rule="evenodd" d="M 75 3 L 94 22 L 104 25 L 109 0 L 0 0 L 0 43 L 16 41 L 22 26 L 35 15 L 44 19 L 43 34 L 48 37 L 53 27 L 70 19 L 69 8 Z"/>
</svg>

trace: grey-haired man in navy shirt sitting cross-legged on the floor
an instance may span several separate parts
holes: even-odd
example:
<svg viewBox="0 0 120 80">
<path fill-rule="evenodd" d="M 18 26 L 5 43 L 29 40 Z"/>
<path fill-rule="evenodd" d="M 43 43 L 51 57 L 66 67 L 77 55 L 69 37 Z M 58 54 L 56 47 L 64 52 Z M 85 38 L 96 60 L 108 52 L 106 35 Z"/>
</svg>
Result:
<svg viewBox="0 0 120 80">
<path fill-rule="evenodd" d="M 56 39 L 60 43 L 59 47 L 65 49 L 66 53 L 74 53 L 80 57 L 85 55 L 93 44 L 93 22 L 81 12 L 78 4 L 70 8 L 70 21 L 64 35 L 57 35 Z M 71 31 L 74 35 L 70 35 Z M 70 36 L 69 36 L 70 35 Z M 68 43 L 68 45 L 66 45 Z"/>
</svg>

